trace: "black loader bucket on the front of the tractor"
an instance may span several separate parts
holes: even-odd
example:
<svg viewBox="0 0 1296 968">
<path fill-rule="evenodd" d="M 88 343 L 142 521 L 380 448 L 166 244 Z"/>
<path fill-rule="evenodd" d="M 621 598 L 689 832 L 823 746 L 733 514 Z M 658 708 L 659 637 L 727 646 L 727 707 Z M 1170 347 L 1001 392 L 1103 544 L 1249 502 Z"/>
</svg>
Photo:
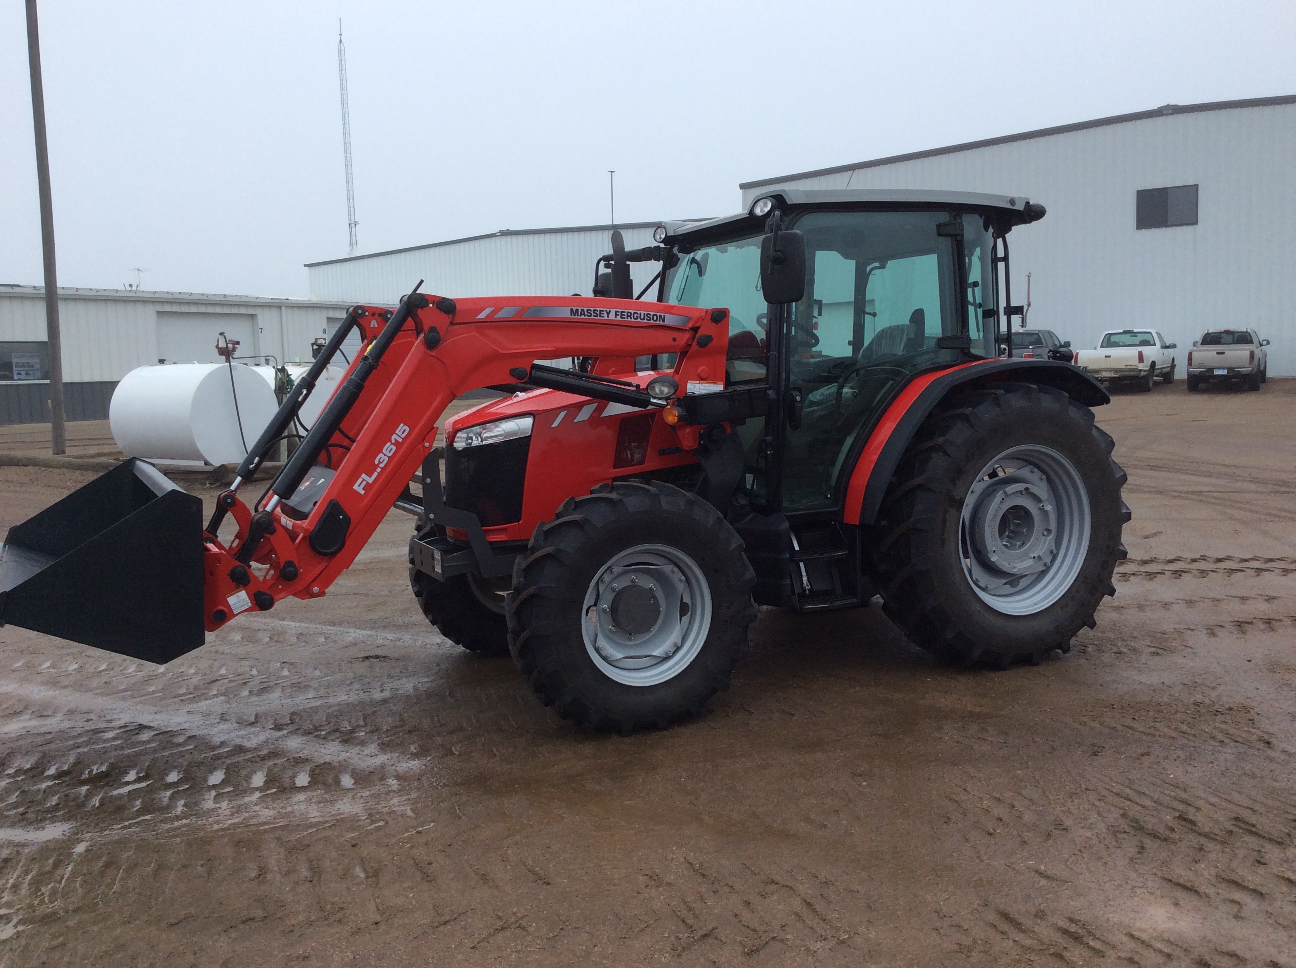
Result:
<svg viewBox="0 0 1296 968">
<path fill-rule="evenodd" d="M 202 500 L 128 460 L 9 529 L 0 625 L 148 662 L 202 645 Z"/>
</svg>

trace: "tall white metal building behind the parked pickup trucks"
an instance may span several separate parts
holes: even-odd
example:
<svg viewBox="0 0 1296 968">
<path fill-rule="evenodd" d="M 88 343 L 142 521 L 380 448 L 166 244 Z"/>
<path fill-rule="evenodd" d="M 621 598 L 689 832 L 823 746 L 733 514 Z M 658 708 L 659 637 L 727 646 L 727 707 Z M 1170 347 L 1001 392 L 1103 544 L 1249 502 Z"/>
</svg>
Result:
<svg viewBox="0 0 1296 968">
<path fill-rule="evenodd" d="M 1048 209 L 1010 236 L 1012 299 L 1077 349 L 1150 327 L 1179 345 L 1207 328 L 1273 341 L 1296 376 L 1296 97 L 1166 105 L 1023 135 L 741 185 L 931 188 L 1025 196 Z"/>
</svg>

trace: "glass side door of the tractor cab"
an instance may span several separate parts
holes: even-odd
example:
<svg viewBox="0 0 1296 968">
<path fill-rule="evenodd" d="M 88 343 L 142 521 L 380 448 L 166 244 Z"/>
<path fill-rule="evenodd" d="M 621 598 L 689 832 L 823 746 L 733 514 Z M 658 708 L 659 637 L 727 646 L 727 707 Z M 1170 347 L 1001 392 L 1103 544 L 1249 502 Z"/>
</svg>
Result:
<svg viewBox="0 0 1296 968">
<path fill-rule="evenodd" d="M 805 235 L 807 277 L 787 314 L 780 375 L 784 513 L 840 507 L 868 433 L 916 373 L 958 363 L 969 346 L 994 351 L 982 332 L 989 235 L 973 218 L 973 250 L 949 213 L 810 213 L 792 225 Z"/>
</svg>

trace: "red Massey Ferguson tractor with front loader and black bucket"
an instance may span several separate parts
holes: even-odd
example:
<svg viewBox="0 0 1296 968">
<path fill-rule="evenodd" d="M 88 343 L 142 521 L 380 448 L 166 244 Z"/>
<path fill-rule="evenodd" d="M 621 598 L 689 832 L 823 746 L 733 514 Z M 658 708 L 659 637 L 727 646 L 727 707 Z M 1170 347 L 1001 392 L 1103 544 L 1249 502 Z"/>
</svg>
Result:
<svg viewBox="0 0 1296 968">
<path fill-rule="evenodd" d="M 594 298 L 358 306 L 206 526 L 197 498 L 123 464 L 10 530 L 0 622 L 168 662 L 242 612 L 324 595 L 397 507 L 419 516 L 429 621 L 599 730 L 699 713 L 757 605 L 880 596 L 941 658 L 1065 653 L 1115 593 L 1129 511 L 1090 409 L 1107 393 L 1001 356 L 1021 314 L 1007 236 L 1043 214 L 778 190 L 647 249 L 614 233 Z M 631 262 L 661 264 L 654 302 Z M 365 352 L 245 503 L 353 329 Z M 442 454 L 442 413 L 480 387 L 507 395 L 446 421 Z"/>
</svg>

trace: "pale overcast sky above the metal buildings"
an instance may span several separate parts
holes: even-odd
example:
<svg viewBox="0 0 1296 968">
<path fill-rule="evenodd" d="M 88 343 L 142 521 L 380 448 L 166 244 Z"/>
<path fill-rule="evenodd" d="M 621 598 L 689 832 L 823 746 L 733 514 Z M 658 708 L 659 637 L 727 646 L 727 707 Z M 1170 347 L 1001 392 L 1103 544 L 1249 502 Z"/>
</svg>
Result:
<svg viewBox="0 0 1296 968">
<path fill-rule="evenodd" d="M 740 181 L 1296 93 L 1296 4 L 73 3 L 40 32 L 58 279 L 307 294 L 346 255 L 721 215 Z M 41 282 L 23 4 L 0 4 L 0 282 Z"/>
</svg>

